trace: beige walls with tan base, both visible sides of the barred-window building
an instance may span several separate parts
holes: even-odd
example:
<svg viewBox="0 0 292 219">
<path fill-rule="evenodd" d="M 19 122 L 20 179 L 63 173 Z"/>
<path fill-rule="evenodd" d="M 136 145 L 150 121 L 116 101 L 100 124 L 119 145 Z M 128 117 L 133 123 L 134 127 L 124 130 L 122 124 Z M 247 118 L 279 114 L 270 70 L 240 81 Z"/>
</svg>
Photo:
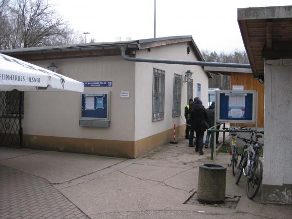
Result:
<svg viewBox="0 0 292 219">
<path fill-rule="evenodd" d="M 136 52 L 136 57 L 197 60 L 188 43 L 177 43 Z M 85 92 L 111 91 L 110 127 L 79 126 L 81 94 L 76 92 L 25 92 L 24 146 L 48 150 L 136 158 L 173 138 L 184 135 L 187 83 L 182 83 L 181 116 L 172 117 L 173 76 L 191 70 L 193 97 L 201 83 L 201 99 L 207 106 L 208 77 L 200 66 L 129 62 L 121 56 L 85 57 L 33 61 L 78 81 L 112 81 L 112 87 L 85 88 Z M 164 120 L 152 122 L 153 68 L 165 71 Z M 129 91 L 129 98 L 120 98 Z"/>
</svg>

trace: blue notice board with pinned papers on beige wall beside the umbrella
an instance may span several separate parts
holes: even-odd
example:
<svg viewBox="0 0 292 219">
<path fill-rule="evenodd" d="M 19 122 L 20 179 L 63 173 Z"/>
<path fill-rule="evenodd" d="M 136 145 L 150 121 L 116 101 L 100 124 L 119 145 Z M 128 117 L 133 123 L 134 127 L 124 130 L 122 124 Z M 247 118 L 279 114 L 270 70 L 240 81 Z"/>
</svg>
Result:
<svg viewBox="0 0 292 219">
<path fill-rule="evenodd" d="M 109 92 L 81 94 L 81 118 L 109 119 Z"/>
</svg>

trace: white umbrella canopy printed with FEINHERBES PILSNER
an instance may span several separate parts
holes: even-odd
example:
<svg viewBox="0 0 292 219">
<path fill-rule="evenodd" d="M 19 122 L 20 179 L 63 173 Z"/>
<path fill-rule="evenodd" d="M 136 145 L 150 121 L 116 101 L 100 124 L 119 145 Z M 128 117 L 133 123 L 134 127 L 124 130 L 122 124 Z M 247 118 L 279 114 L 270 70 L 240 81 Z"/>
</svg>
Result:
<svg viewBox="0 0 292 219">
<path fill-rule="evenodd" d="M 83 83 L 37 65 L 0 54 L 0 91 L 77 91 Z"/>
</svg>

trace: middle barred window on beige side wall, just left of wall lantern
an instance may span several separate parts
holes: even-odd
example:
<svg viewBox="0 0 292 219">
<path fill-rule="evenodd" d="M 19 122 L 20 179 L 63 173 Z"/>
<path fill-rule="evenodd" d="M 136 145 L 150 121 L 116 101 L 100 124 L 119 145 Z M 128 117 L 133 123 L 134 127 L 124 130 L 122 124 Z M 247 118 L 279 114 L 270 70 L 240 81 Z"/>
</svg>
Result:
<svg viewBox="0 0 292 219">
<path fill-rule="evenodd" d="M 181 115 L 182 75 L 173 74 L 172 117 Z"/>
</svg>

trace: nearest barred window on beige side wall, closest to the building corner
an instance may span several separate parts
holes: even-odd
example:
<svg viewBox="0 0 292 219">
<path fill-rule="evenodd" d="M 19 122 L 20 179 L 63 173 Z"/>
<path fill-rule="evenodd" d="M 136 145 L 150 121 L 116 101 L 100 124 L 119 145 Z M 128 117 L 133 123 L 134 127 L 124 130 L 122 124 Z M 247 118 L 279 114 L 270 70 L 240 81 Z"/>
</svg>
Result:
<svg viewBox="0 0 292 219">
<path fill-rule="evenodd" d="M 164 119 L 165 71 L 153 68 L 152 122 Z"/>
</svg>

